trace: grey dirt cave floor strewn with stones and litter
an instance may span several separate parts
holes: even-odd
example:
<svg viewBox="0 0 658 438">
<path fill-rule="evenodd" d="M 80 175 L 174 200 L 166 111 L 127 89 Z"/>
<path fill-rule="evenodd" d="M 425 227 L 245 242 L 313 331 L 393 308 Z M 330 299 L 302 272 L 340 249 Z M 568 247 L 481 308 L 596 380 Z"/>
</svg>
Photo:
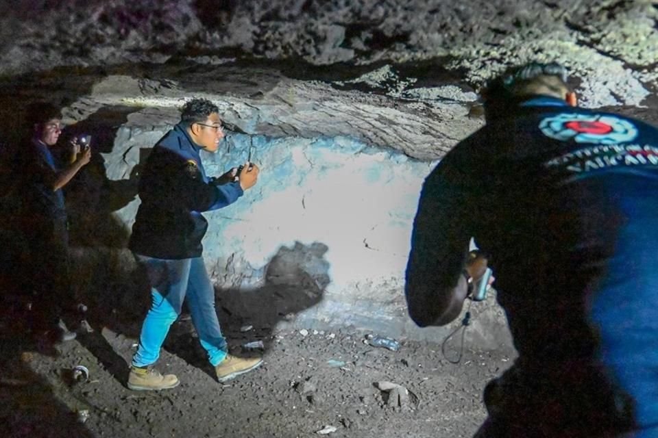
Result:
<svg viewBox="0 0 658 438">
<path fill-rule="evenodd" d="M 218 308 L 220 317 L 228 311 L 221 302 Z M 158 363 L 160 370 L 178 374 L 180 386 L 130 391 L 125 379 L 136 336 L 125 333 L 137 333 L 138 318 L 112 329 L 95 326 L 53 350 L 27 342 L 16 318 L 4 311 L 0 319 L 0 436 L 11 438 L 295 438 L 333 430 L 326 426 L 335 428 L 330 437 L 471 437 L 485 418 L 485 383 L 513 360 L 504 352 L 465 346 L 461 363 L 453 364 L 441 354 L 441 339 L 403 340 L 393 352 L 365 344 L 368 333 L 350 328 L 305 330 L 282 322 L 244 331 L 244 325 L 229 324 L 232 351 L 263 354 L 265 362 L 221 384 L 183 317 Z M 263 340 L 263 350 L 242 347 L 257 340 Z M 456 358 L 459 336 L 446 348 Z M 71 370 L 80 364 L 89 379 L 73 382 Z M 406 398 L 402 390 L 398 398 L 400 391 L 382 391 L 380 382 L 402 385 L 411 394 Z"/>
</svg>

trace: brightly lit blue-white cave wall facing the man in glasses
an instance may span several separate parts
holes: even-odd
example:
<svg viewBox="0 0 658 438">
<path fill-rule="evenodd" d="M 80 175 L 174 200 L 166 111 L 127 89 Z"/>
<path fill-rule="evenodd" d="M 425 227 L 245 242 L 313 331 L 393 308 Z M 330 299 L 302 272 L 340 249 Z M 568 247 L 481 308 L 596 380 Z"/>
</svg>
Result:
<svg viewBox="0 0 658 438">
<path fill-rule="evenodd" d="M 108 176 L 127 175 L 125 163 L 138 161 L 135 146 L 152 145 L 162 133 L 120 129 L 115 145 L 124 152 L 107 157 Z M 257 288 L 281 248 L 319 242 L 328 248 L 326 263 L 308 260 L 300 268 L 310 278 L 325 270 L 330 282 L 321 302 L 297 320 L 395 335 L 416 331 L 404 303 L 404 269 L 422 183 L 436 163 L 347 137 L 231 134 L 217 153 L 203 154 L 206 172 L 219 175 L 241 164 L 250 146 L 261 169 L 258 184 L 234 205 L 205 214 L 204 257 L 217 285 Z M 137 205 L 119 211 L 128 226 Z"/>
</svg>

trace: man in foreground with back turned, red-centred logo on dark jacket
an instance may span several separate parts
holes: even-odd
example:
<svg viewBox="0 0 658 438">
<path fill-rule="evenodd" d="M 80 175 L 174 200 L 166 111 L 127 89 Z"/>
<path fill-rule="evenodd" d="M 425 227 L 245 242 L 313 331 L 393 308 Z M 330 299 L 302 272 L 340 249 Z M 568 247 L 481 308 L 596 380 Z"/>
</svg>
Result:
<svg viewBox="0 0 658 438">
<path fill-rule="evenodd" d="M 533 63 L 491 81 L 487 124 L 419 201 L 411 317 L 459 315 L 474 237 L 519 354 L 476 437 L 658 436 L 658 130 L 576 107 L 566 80 Z"/>
</svg>

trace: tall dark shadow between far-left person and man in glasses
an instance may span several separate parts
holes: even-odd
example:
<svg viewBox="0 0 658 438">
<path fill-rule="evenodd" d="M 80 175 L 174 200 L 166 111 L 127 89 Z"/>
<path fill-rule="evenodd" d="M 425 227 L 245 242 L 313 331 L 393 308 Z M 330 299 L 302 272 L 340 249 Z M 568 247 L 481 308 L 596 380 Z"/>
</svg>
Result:
<svg viewBox="0 0 658 438">
<path fill-rule="evenodd" d="M 92 157 L 64 188 L 66 211 L 69 216 L 69 241 L 71 247 L 71 276 L 75 285 L 73 294 L 84 303 L 88 311 L 84 318 L 94 329 L 92 333 L 79 333 L 82 344 L 103 367 L 121 383 L 127 381 L 128 368 L 125 359 L 103 337 L 103 328 L 114 333 L 136 336 L 135 324 L 145 302 L 138 297 L 127 299 L 136 278 L 122 278 L 130 230 L 112 213 L 125 207 L 137 196 L 138 169 L 134 166 L 129 179 L 110 180 L 102 153 L 110 153 L 117 131 L 127 122 L 131 107 L 102 107 L 71 127 L 58 142 L 65 150 L 74 136 L 92 136 Z M 130 301 L 130 302 L 129 302 Z"/>
</svg>

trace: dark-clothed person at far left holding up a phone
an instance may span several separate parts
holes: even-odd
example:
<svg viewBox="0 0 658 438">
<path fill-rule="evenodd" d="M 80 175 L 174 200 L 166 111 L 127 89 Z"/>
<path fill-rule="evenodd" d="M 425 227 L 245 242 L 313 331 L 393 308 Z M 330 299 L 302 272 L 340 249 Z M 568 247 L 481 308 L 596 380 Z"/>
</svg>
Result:
<svg viewBox="0 0 658 438">
<path fill-rule="evenodd" d="M 23 275 L 32 302 L 32 329 L 50 342 L 75 339 L 60 318 L 75 307 L 69 277 L 69 232 L 62 188 L 91 158 L 90 149 L 80 150 L 75 142 L 73 155 L 61 166 L 53 157 L 62 133 L 58 107 L 47 103 L 30 105 L 27 124 L 32 139 L 21 153 L 23 169 L 19 185 L 21 228 L 29 246 L 29 266 Z"/>
</svg>

